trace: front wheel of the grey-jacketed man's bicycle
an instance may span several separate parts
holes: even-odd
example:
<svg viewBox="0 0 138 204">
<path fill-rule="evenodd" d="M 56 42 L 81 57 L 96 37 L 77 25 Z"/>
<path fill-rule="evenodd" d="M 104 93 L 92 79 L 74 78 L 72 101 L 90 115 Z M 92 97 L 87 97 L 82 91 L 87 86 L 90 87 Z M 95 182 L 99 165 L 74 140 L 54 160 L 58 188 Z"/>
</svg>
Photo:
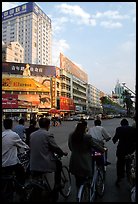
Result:
<svg viewBox="0 0 138 204">
<path fill-rule="evenodd" d="M 71 193 L 71 175 L 66 166 L 62 167 L 61 185 L 63 187 L 61 188 L 60 193 L 64 198 L 67 198 Z"/>
</svg>

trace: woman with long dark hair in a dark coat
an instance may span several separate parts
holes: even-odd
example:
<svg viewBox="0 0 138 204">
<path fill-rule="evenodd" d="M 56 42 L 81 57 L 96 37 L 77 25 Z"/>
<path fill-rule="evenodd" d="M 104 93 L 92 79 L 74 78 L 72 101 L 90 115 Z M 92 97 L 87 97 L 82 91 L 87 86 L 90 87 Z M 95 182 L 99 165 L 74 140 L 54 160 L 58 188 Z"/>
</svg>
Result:
<svg viewBox="0 0 138 204">
<path fill-rule="evenodd" d="M 79 122 L 69 135 L 68 146 L 71 151 L 69 169 L 75 176 L 77 191 L 87 176 L 92 176 L 92 148 L 104 152 L 105 149 L 95 143 L 86 133 L 87 122 Z"/>
</svg>

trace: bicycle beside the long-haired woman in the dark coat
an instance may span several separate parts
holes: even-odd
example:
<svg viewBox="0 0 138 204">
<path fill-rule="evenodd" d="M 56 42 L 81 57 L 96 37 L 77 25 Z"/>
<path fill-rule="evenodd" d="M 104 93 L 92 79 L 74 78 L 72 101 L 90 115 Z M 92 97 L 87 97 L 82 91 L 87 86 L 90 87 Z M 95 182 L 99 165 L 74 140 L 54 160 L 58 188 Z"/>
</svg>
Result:
<svg viewBox="0 0 138 204">
<path fill-rule="evenodd" d="M 102 197 L 104 195 L 105 166 L 103 163 L 103 155 L 99 152 L 93 152 L 92 177 L 86 177 L 85 182 L 80 186 L 77 201 L 78 202 L 94 202 L 96 195 Z"/>
</svg>

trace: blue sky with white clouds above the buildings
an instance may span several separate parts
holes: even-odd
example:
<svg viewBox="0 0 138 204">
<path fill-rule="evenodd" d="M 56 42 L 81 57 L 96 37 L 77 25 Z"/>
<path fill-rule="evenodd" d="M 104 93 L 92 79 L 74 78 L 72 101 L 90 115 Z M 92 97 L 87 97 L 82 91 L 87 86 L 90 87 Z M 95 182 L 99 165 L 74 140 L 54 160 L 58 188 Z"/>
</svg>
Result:
<svg viewBox="0 0 138 204">
<path fill-rule="evenodd" d="M 26 2 L 2 2 L 2 11 Z M 117 80 L 135 91 L 135 2 L 35 2 L 52 20 L 53 65 L 62 52 L 111 94 Z"/>
</svg>

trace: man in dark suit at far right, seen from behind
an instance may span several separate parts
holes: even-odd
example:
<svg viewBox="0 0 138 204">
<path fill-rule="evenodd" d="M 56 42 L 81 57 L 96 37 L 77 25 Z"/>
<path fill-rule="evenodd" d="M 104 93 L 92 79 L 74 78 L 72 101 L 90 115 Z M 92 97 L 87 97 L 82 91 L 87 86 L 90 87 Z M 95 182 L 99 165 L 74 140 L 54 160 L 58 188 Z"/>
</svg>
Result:
<svg viewBox="0 0 138 204">
<path fill-rule="evenodd" d="M 117 180 L 116 186 L 119 186 L 122 178 L 125 176 L 125 156 L 132 154 L 136 150 L 136 130 L 129 125 L 127 119 L 122 119 L 119 127 L 116 128 L 113 137 L 113 143 L 118 142 L 116 156 L 117 156 Z"/>
</svg>

